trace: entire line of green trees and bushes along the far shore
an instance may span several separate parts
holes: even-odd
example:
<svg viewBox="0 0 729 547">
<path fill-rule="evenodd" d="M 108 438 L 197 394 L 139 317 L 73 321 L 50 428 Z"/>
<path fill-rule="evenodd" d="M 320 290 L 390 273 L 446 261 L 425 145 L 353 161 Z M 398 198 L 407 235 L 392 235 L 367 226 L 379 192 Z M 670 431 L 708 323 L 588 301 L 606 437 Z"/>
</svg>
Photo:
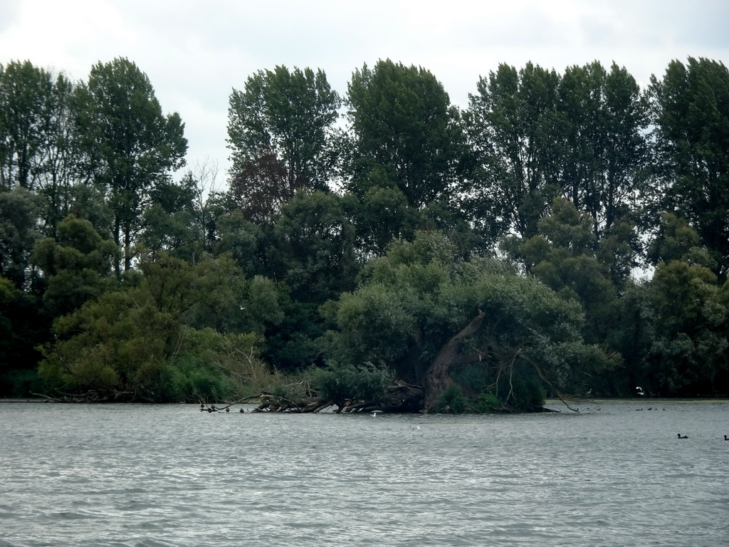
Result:
<svg viewBox="0 0 729 547">
<path fill-rule="evenodd" d="M 418 66 L 276 66 L 221 188 L 132 61 L 0 65 L 1 395 L 726 395 L 728 118 L 706 58 L 502 64 L 465 109 Z"/>
</svg>

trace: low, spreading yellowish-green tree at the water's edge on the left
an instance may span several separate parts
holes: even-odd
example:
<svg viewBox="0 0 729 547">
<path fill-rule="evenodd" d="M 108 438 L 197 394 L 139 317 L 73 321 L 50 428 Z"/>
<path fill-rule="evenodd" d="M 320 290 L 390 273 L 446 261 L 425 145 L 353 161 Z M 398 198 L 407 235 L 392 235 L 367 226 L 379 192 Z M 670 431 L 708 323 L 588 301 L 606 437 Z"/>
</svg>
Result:
<svg viewBox="0 0 729 547">
<path fill-rule="evenodd" d="M 200 322 L 233 301 L 233 263 L 208 259 L 191 265 L 162 253 L 142 260 L 140 269 L 138 285 L 106 292 L 56 320 L 55 341 L 40 365 L 44 378 L 65 389 L 119 389 L 152 400 L 179 400 L 190 376 L 198 377 L 187 384 L 193 392 L 200 389 L 200 375 L 225 384 L 226 375 L 216 373 L 220 368 L 206 364 L 206 352 L 198 350 L 222 339 Z M 218 357 L 225 353 L 225 367 L 234 365 L 235 354 L 254 355 L 260 344 L 256 336 L 223 338 Z"/>
</svg>

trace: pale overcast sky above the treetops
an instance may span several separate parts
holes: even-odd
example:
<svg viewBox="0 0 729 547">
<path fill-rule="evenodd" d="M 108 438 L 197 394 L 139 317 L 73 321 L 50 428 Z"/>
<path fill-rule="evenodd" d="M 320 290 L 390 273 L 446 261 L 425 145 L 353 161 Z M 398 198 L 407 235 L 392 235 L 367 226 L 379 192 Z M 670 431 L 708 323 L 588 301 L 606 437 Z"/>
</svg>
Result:
<svg viewBox="0 0 729 547">
<path fill-rule="evenodd" d="M 615 61 L 643 87 L 671 59 L 729 65 L 728 28 L 728 0 L 0 0 L 0 63 L 87 79 L 126 57 L 181 115 L 188 163 L 225 170 L 230 91 L 259 69 L 320 68 L 343 95 L 354 69 L 390 58 L 432 71 L 465 107 L 499 63 Z"/>
</svg>

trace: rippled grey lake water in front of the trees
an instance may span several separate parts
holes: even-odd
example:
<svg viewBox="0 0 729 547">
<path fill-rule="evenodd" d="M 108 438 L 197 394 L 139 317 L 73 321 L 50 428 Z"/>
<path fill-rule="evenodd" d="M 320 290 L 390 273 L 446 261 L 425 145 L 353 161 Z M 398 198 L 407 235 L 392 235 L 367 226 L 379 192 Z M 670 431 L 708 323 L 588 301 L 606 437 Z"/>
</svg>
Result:
<svg viewBox="0 0 729 547">
<path fill-rule="evenodd" d="M 376 418 L 0 403 L 0 546 L 728 545 L 729 403 L 646 403 Z"/>
</svg>

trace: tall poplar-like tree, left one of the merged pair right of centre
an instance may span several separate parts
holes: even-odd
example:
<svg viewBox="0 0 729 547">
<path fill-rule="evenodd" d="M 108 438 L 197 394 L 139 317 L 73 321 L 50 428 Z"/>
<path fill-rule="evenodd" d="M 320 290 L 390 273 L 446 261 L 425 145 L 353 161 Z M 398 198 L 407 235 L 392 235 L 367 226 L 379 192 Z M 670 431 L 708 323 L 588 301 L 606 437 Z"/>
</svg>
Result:
<svg viewBox="0 0 729 547">
<path fill-rule="evenodd" d="M 560 80 L 554 70 L 532 63 L 520 71 L 501 64 L 469 96 L 469 136 L 478 155 L 469 205 L 490 238 L 535 236 L 559 194 Z"/>
</svg>

